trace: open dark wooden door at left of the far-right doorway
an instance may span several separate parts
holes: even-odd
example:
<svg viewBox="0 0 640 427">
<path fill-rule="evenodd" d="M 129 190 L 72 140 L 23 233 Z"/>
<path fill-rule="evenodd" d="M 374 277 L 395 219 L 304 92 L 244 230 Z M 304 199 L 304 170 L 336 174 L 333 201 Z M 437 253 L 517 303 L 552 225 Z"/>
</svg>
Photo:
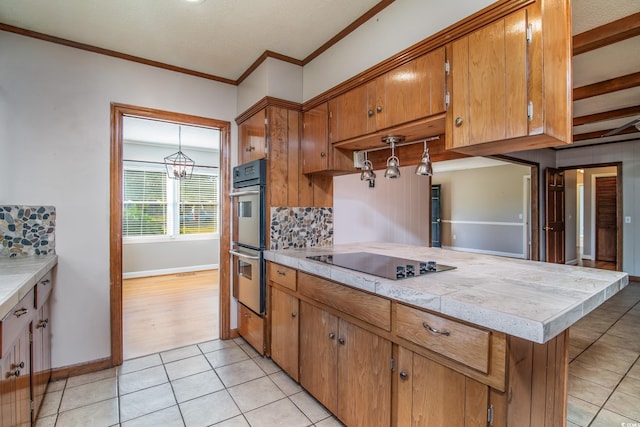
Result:
<svg viewBox="0 0 640 427">
<path fill-rule="evenodd" d="M 564 264 L 564 172 L 547 168 L 545 178 L 547 262 Z"/>
</svg>

